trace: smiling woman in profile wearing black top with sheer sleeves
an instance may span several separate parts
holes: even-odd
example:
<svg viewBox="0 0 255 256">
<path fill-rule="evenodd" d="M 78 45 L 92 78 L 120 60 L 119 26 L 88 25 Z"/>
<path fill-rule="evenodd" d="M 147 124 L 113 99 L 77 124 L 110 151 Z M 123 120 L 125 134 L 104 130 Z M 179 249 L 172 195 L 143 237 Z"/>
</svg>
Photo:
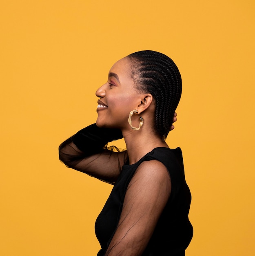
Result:
<svg viewBox="0 0 255 256">
<path fill-rule="evenodd" d="M 98 256 L 183 256 L 193 228 L 180 148 L 166 136 L 182 80 L 166 55 L 141 51 L 117 61 L 97 91 L 96 124 L 60 145 L 67 166 L 114 184 L 95 223 Z M 126 151 L 105 145 L 124 137 Z"/>
</svg>

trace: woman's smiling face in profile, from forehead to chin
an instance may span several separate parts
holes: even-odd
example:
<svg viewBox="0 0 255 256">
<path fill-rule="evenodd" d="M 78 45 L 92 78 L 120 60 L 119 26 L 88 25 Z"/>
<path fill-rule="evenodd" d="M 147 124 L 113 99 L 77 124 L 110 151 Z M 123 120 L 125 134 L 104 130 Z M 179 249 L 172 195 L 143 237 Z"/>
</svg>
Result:
<svg viewBox="0 0 255 256">
<path fill-rule="evenodd" d="M 96 91 L 100 98 L 97 126 L 120 129 L 128 126 L 129 112 L 137 109 L 140 95 L 131 78 L 129 58 L 120 59 L 111 67 L 107 83 Z"/>
</svg>

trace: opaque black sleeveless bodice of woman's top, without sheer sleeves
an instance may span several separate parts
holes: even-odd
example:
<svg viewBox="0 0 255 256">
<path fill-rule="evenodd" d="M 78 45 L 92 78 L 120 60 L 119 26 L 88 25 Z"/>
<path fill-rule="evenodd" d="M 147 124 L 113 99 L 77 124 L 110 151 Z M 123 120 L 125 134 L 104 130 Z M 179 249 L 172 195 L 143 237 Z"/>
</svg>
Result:
<svg viewBox="0 0 255 256">
<path fill-rule="evenodd" d="M 191 193 L 186 184 L 180 148 L 154 148 L 135 164 L 125 164 L 113 190 L 95 222 L 95 234 L 101 245 L 98 256 L 106 252 L 118 225 L 127 186 L 143 161 L 162 162 L 171 176 L 171 195 L 142 256 L 184 256 L 193 236 L 188 220 Z"/>
</svg>

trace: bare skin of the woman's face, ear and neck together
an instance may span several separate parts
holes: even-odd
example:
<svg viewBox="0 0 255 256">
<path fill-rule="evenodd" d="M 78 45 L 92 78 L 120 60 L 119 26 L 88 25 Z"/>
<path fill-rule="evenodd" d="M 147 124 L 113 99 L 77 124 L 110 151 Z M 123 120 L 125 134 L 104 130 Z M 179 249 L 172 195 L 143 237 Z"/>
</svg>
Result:
<svg viewBox="0 0 255 256">
<path fill-rule="evenodd" d="M 119 79 L 112 74 L 118 75 Z M 151 94 L 139 92 L 135 87 L 129 58 L 122 58 L 111 67 L 107 83 L 98 88 L 96 96 L 100 98 L 99 103 L 107 106 L 97 109 L 96 124 L 99 127 L 122 130 L 130 164 L 137 162 L 155 147 L 168 147 L 154 130 L 155 101 Z M 138 111 L 138 115 L 132 117 L 133 126 L 139 126 L 140 116 L 144 119 L 144 125 L 139 131 L 133 131 L 127 122 L 129 112 L 134 109 Z"/>
</svg>

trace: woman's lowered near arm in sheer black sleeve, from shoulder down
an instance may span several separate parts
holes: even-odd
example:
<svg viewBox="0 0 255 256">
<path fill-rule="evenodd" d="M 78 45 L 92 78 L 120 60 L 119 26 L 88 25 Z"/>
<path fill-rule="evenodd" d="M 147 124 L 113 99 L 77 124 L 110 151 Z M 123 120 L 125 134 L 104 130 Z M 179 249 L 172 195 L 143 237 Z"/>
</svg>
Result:
<svg viewBox="0 0 255 256">
<path fill-rule="evenodd" d="M 142 255 L 170 193 L 166 167 L 157 160 L 143 162 L 129 183 L 120 221 L 105 256 Z"/>
</svg>

